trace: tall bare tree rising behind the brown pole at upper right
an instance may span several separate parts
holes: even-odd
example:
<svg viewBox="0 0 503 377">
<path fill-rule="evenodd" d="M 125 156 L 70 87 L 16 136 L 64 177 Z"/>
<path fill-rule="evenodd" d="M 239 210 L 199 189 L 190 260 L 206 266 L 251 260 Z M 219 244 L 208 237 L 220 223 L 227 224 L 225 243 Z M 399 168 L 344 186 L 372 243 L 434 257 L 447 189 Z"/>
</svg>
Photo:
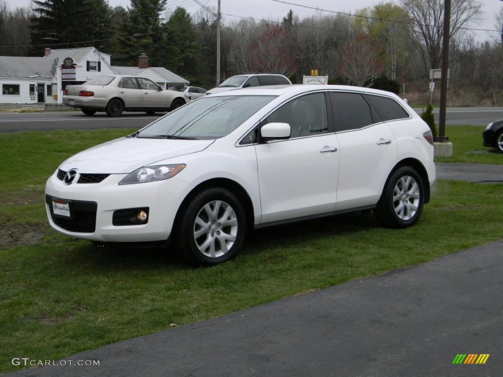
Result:
<svg viewBox="0 0 503 377">
<path fill-rule="evenodd" d="M 440 66 L 444 30 L 444 0 L 400 0 L 414 21 L 410 37 L 423 57 L 425 71 Z M 478 0 L 452 0 L 450 38 L 464 30 L 482 14 Z"/>
</svg>

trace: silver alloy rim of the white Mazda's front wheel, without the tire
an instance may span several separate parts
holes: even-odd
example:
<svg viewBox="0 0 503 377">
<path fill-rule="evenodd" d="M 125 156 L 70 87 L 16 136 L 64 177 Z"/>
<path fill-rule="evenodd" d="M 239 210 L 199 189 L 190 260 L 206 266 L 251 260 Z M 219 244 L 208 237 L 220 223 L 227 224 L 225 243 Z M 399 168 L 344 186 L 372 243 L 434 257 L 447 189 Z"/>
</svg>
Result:
<svg viewBox="0 0 503 377">
<path fill-rule="evenodd" d="M 232 247 L 237 230 L 237 217 L 232 207 L 215 200 L 199 210 L 194 221 L 194 241 L 202 254 L 218 258 Z"/>
</svg>

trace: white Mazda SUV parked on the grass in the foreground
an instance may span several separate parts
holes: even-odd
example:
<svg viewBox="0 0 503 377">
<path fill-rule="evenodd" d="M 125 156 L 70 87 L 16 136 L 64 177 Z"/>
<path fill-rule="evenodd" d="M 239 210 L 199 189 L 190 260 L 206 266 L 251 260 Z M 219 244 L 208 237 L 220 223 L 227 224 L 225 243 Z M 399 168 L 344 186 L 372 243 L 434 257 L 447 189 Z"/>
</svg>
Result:
<svg viewBox="0 0 503 377">
<path fill-rule="evenodd" d="M 49 177 L 50 225 L 98 243 L 171 241 L 189 262 L 234 257 L 250 227 L 373 209 L 415 224 L 433 137 L 392 93 L 288 85 L 216 93 L 80 152 Z"/>
</svg>

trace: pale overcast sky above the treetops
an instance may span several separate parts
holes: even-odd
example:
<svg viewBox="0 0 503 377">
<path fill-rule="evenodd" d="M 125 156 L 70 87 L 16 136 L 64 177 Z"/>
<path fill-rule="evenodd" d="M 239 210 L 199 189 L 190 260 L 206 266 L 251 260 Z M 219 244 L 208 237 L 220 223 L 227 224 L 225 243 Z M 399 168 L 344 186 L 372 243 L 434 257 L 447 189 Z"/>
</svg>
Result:
<svg viewBox="0 0 503 377">
<path fill-rule="evenodd" d="M 239 17 L 251 17 L 258 20 L 281 19 L 291 9 L 294 14 L 301 18 L 315 14 L 312 8 L 319 8 L 331 12 L 344 12 L 354 14 L 356 10 L 373 7 L 383 0 L 221 0 L 221 9 L 225 21 L 237 20 Z M 494 17 L 499 13 L 503 2 L 499 0 L 479 0 L 484 9 L 483 20 L 474 29 L 494 29 Z M 393 2 L 391 0 L 391 2 Z M 11 8 L 30 5 L 30 0 L 7 0 Z M 288 4 L 285 4 L 288 3 Z M 394 3 L 397 3 L 395 0 Z M 129 0 L 109 0 L 111 6 L 123 6 L 127 8 Z M 190 14 L 195 14 L 201 9 L 201 5 L 208 8 L 217 8 L 218 0 L 167 0 L 167 7 L 174 10 L 177 7 L 185 8 Z M 324 12 L 330 14 L 330 12 Z M 478 42 L 492 40 L 494 33 L 478 31 L 475 40 Z"/>
</svg>

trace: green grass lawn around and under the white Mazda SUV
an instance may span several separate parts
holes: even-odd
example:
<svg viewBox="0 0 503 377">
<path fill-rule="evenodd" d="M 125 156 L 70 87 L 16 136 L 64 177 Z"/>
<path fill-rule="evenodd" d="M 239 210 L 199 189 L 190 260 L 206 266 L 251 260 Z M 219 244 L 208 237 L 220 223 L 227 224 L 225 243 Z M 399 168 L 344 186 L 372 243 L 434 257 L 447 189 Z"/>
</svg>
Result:
<svg viewBox="0 0 503 377">
<path fill-rule="evenodd" d="M 482 129 L 448 128 L 455 155 L 445 161 L 503 164 L 500 155 L 474 152 L 484 150 Z M 211 268 L 189 268 L 167 250 L 103 248 L 53 232 L 47 177 L 73 153 L 131 131 L 0 134 L 1 228 L 38 237 L 0 250 L 0 372 L 19 368 L 13 357 L 57 359 L 503 237 L 501 185 L 443 180 L 412 228 L 381 228 L 360 213 L 268 228 L 249 234 L 235 260 Z"/>
</svg>

